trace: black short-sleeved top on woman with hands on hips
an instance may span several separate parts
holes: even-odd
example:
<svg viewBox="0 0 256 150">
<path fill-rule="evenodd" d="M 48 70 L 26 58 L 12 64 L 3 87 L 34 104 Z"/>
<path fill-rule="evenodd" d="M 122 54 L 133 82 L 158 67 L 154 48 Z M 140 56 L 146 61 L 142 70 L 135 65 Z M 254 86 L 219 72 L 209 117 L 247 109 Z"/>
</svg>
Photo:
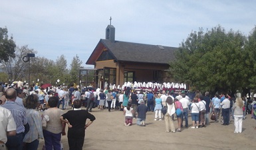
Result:
<svg viewBox="0 0 256 150">
<path fill-rule="evenodd" d="M 86 119 L 94 121 L 96 118 L 86 110 L 69 110 L 63 114 L 63 119 L 72 125 L 72 128 L 68 128 L 68 137 L 84 137 Z"/>
</svg>

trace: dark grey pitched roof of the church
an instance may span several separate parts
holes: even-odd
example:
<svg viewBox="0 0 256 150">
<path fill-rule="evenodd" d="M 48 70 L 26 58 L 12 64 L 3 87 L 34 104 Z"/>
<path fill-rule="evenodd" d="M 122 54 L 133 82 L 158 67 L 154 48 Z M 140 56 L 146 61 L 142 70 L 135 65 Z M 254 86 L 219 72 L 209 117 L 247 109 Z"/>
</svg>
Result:
<svg viewBox="0 0 256 150">
<path fill-rule="evenodd" d="M 92 55 L 96 54 L 95 51 L 100 43 L 113 54 L 116 61 L 168 64 L 172 59 L 174 59 L 174 52 L 178 50 L 178 48 L 168 46 L 138 44 L 122 41 L 111 42 L 110 40 L 100 39 L 100 42 L 94 49 L 94 52 L 92 52 Z M 89 63 L 92 55 L 89 57 L 86 64 Z"/>
</svg>

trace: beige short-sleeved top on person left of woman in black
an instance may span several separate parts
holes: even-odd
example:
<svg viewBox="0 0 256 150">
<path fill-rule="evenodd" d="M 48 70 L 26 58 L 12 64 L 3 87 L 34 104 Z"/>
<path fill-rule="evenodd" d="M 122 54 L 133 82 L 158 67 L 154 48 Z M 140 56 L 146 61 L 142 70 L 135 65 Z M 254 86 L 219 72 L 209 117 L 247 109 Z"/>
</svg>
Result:
<svg viewBox="0 0 256 150">
<path fill-rule="evenodd" d="M 63 113 L 63 110 L 60 110 L 59 108 L 49 108 L 45 110 L 44 115 L 48 115 L 50 118 L 45 130 L 55 134 L 61 133 L 63 130 L 63 123 L 60 118 Z"/>
</svg>

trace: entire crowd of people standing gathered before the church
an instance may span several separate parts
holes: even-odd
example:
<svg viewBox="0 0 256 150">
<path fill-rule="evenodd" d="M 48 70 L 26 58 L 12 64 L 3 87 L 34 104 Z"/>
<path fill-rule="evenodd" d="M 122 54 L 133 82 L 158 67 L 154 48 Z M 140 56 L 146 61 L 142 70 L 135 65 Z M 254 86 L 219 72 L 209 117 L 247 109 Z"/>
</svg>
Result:
<svg viewBox="0 0 256 150">
<path fill-rule="evenodd" d="M 70 149 L 82 149 L 84 130 L 96 119 L 90 114 L 93 109 L 123 112 L 124 126 L 132 126 L 135 118 L 138 126 L 146 126 L 146 114 L 151 111 L 154 121 L 164 120 L 166 132 L 173 133 L 189 127 L 188 116 L 192 119 L 192 129 L 205 128 L 210 118 L 223 126 L 233 120 L 234 133 L 242 132 L 247 113 L 256 119 L 256 96 L 250 102 L 241 93 L 233 96 L 216 93 L 211 98 L 209 92 L 188 93 L 184 88 L 155 90 L 152 87 L 149 90 L 138 87 L 80 89 L 76 85 L 43 88 L 37 84 L 31 87 L 1 84 L 0 116 L 4 121 L 0 126 L 5 128 L 5 133 L 1 132 L 0 144 L 8 149 L 37 149 L 39 139 L 44 139 L 45 149 L 61 149 L 61 135 L 66 135 L 67 124 Z M 64 113 L 63 110 L 70 107 Z M 174 126 L 174 118 L 177 118 L 178 128 Z"/>
</svg>

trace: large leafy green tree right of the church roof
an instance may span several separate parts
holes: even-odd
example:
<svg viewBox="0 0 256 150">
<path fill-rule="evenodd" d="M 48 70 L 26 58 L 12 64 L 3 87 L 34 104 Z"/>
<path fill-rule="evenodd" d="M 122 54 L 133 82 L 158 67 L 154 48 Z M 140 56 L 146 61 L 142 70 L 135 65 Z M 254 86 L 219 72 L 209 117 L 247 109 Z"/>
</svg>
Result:
<svg viewBox="0 0 256 150">
<path fill-rule="evenodd" d="M 242 73 L 246 38 L 239 31 L 225 32 L 221 26 L 192 32 L 170 63 L 174 79 L 203 91 L 235 91 L 247 82 Z"/>
</svg>

